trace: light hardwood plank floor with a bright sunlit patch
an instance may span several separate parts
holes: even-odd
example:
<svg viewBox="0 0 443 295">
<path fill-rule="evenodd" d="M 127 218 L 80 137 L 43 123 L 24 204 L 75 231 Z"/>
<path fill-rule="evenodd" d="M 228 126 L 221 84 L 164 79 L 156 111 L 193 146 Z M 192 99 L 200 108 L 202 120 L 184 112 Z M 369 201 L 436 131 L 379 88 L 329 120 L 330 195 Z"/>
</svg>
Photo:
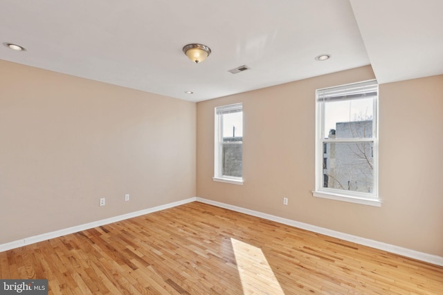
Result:
<svg viewBox="0 0 443 295">
<path fill-rule="evenodd" d="M 443 267 L 200 202 L 3 251 L 0 265 L 0 278 L 48 278 L 49 294 L 443 294 Z"/>
</svg>

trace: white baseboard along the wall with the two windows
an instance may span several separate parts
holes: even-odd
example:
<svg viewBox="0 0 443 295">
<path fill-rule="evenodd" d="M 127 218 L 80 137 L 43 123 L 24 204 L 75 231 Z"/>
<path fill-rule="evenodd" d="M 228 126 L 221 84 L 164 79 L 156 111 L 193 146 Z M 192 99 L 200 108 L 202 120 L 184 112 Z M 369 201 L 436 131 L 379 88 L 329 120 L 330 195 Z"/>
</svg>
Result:
<svg viewBox="0 0 443 295">
<path fill-rule="evenodd" d="M 314 233 L 317 234 L 323 234 L 325 236 L 332 236 L 334 238 L 339 238 L 341 240 L 347 240 L 349 242 L 356 242 L 357 244 L 360 245 L 364 245 L 364 246 L 368 246 L 368 247 L 372 247 L 375 249 L 379 249 L 379 250 L 383 250 L 383 251 L 388 251 L 394 254 L 398 254 L 401 256 L 406 256 L 409 258 L 414 258 L 417 260 L 422 260 L 426 263 L 432 263 L 434 265 L 440 265 L 443 266 L 443 257 L 441 256 L 436 256 L 436 255 L 431 255 L 431 254 L 426 254 L 423 252 L 419 252 L 419 251 L 415 251 L 415 250 L 411 250 L 411 249 L 406 249 L 403 247 L 398 247 L 395 245 L 390 245 L 390 244 L 386 244 L 385 242 L 378 242 L 377 240 L 370 240 L 368 238 L 361 238 L 359 236 L 352 236 L 350 234 L 344 234 L 341 233 L 339 231 L 333 231 L 331 229 L 325 229 L 324 227 L 317 227 L 315 225 L 309 225 L 307 223 L 304 222 L 298 222 L 295 220 L 291 220 L 291 219 L 287 219 L 287 218 L 281 218 L 278 216 L 273 216 L 271 214 L 266 214 L 266 213 L 262 213 L 259 211 L 254 211 L 254 210 L 250 210 L 250 209 L 244 209 L 242 207 L 237 207 L 237 206 L 233 206 L 230 204 L 225 204 L 225 203 L 221 203 L 221 202 L 216 202 L 213 200 L 207 200 L 205 198 L 199 198 L 197 197 L 197 201 L 198 202 L 202 202 L 205 204 L 211 204 L 217 207 L 221 207 L 224 209 L 229 209 L 229 210 L 233 210 L 233 211 L 237 211 L 240 213 L 245 213 L 251 216 L 256 216 L 256 217 L 260 217 L 260 218 L 264 218 L 267 220 L 272 220 L 275 222 L 280 222 L 284 225 L 290 225 L 292 227 L 298 227 L 299 229 L 306 229 L 307 231 L 313 231 Z"/>
</svg>

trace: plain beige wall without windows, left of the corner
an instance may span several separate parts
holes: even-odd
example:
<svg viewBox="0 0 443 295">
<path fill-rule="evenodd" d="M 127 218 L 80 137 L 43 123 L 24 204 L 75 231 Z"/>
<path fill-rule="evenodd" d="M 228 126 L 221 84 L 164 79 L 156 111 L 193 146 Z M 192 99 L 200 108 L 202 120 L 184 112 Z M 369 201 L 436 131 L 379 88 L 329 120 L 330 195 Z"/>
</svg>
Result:
<svg viewBox="0 0 443 295">
<path fill-rule="evenodd" d="M 0 244 L 195 197 L 195 141 L 195 103 L 0 61 Z"/>
</svg>

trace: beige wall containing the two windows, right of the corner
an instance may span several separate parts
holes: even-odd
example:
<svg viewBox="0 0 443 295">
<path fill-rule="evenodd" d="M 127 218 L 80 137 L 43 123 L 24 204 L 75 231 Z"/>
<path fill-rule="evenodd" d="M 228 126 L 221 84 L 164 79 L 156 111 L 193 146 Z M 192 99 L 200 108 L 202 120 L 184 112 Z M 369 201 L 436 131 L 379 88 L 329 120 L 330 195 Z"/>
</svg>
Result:
<svg viewBox="0 0 443 295">
<path fill-rule="evenodd" d="M 373 78 L 366 66 L 199 102 L 197 196 L 443 256 L 443 75 L 379 88 L 381 207 L 311 196 L 315 90 Z M 212 180 L 214 108 L 237 102 L 243 186 Z"/>
</svg>

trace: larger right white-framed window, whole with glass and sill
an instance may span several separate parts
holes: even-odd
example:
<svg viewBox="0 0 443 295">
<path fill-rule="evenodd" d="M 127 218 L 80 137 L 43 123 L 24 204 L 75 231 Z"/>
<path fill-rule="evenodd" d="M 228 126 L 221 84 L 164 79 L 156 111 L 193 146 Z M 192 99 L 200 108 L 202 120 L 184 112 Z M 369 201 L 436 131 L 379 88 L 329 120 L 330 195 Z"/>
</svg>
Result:
<svg viewBox="0 0 443 295">
<path fill-rule="evenodd" d="M 377 81 L 316 91 L 313 195 L 380 206 Z"/>
</svg>

